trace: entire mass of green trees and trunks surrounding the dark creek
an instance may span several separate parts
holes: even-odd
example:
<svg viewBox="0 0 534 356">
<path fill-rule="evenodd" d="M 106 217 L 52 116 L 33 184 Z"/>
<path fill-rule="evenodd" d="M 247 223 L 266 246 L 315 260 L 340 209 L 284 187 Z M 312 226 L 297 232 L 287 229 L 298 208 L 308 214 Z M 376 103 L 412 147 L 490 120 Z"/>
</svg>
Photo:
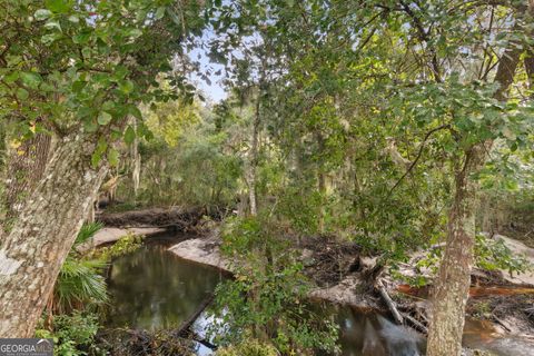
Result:
<svg viewBox="0 0 534 356">
<path fill-rule="evenodd" d="M 427 355 L 461 355 L 473 268 L 528 269 L 493 236 L 533 245 L 533 17 L 532 0 L 3 1 L 0 336 L 34 335 L 95 207 L 179 207 L 236 264 L 230 350 L 335 352 L 295 312 L 313 285 L 295 250 L 335 241 L 378 281 L 424 250 Z"/>
</svg>

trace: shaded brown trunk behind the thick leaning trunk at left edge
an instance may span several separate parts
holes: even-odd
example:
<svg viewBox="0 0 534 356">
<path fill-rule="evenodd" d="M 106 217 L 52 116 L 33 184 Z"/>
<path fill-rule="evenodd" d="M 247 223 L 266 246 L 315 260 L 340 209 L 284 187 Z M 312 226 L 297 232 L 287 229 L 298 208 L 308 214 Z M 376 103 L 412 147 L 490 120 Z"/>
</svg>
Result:
<svg viewBox="0 0 534 356">
<path fill-rule="evenodd" d="M 8 151 L 4 204 L 6 221 L 11 225 L 20 214 L 23 201 L 36 188 L 49 160 L 52 137 L 36 134 Z"/>
</svg>

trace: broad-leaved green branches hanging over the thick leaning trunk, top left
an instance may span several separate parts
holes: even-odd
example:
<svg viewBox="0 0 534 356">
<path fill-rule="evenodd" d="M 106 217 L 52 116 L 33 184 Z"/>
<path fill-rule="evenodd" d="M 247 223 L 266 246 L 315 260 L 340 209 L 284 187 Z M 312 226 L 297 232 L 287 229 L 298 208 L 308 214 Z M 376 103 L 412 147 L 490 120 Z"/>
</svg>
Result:
<svg viewBox="0 0 534 356">
<path fill-rule="evenodd" d="M 137 105 L 177 97 L 159 88 L 158 76 L 191 96 L 169 60 L 204 27 L 199 11 L 197 1 L 8 1 L 0 9 L 10 19 L 0 39 L 0 118 L 14 122 L 18 138 L 77 132 L 99 142 L 93 166 L 117 164 L 108 142 L 131 140 L 122 129 L 129 116 L 139 120 L 134 134 L 149 136 Z"/>
</svg>

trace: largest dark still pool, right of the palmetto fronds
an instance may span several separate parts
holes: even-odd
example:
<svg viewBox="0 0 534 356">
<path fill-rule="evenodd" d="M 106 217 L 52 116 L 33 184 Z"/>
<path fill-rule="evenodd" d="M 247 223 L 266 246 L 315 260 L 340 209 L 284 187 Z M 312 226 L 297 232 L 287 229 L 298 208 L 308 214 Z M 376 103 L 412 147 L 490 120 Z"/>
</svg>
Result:
<svg viewBox="0 0 534 356">
<path fill-rule="evenodd" d="M 119 257 L 108 280 L 108 326 L 157 330 L 180 326 L 224 277 L 179 259 L 165 246 L 144 246 Z"/>
</svg>

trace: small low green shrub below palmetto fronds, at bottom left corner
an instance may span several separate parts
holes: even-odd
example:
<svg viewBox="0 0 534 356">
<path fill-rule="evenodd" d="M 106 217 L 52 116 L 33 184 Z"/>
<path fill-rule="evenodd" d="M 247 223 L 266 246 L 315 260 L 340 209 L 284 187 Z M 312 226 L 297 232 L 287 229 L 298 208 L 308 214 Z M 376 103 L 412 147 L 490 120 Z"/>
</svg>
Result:
<svg viewBox="0 0 534 356">
<path fill-rule="evenodd" d="M 95 314 L 75 312 L 72 315 L 58 315 L 53 318 L 51 327 L 52 332 L 38 328 L 36 337 L 52 338 L 55 355 L 105 355 L 95 343 L 95 336 L 100 327 Z"/>
</svg>

